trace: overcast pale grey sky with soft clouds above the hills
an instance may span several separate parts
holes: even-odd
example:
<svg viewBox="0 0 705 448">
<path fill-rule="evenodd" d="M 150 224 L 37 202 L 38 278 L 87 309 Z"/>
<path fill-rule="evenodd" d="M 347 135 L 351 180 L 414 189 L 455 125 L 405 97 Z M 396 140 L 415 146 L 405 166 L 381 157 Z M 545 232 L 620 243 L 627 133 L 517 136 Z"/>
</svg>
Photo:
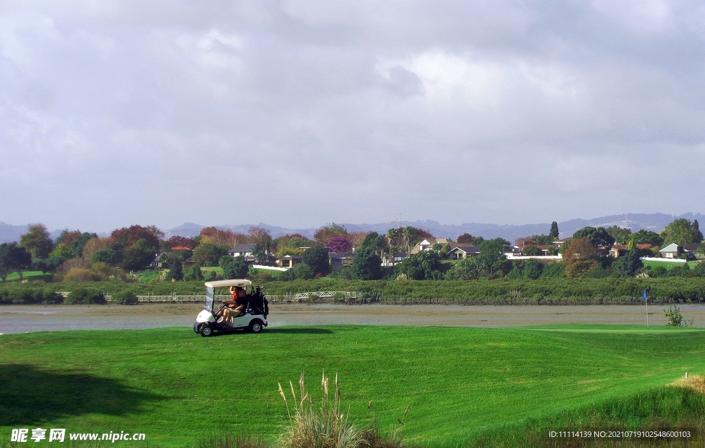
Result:
<svg viewBox="0 0 705 448">
<path fill-rule="evenodd" d="M 701 1 L 3 0 L 0 221 L 705 212 Z"/>
</svg>

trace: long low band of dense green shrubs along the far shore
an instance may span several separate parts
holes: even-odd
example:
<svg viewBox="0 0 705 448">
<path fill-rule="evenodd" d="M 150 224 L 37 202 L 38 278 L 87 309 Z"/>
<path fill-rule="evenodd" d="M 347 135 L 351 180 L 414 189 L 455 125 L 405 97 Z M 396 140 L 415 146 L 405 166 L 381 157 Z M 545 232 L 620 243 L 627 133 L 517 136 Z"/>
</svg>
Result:
<svg viewBox="0 0 705 448">
<path fill-rule="evenodd" d="M 457 303 L 467 305 L 569 305 L 643 303 L 644 289 L 649 303 L 705 302 L 705 279 L 668 277 L 661 279 L 538 279 L 538 280 L 336 280 L 313 279 L 270 281 L 262 284 L 268 295 L 311 291 L 361 291 L 364 301 L 381 303 Z M 201 295 L 202 281 L 87 282 L 44 284 L 0 284 L 0 303 L 42 303 L 42 294 L 54 291 L 98 289 L 106 295 L 129 291 L 138 296 Z M 36 292 L 41 291 L 41 292 Z M 27 294 L 37 295 L 27 298 Z M 32 296 L 34 297 L 34 296 Z M 41 299 L 41 300 L 40 300 Z"/>
</svg>

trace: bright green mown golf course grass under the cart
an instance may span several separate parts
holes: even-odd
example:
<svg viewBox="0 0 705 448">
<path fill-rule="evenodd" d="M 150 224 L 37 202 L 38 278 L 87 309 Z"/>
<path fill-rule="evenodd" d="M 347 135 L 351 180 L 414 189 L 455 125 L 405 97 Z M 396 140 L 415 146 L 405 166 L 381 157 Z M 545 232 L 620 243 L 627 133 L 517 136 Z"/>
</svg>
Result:
<svg viewBox="0 0 705 448">
<path fill-rule="evenodd" d="M 277 382 L 338 373 L 344 406 L 413 442 L 462 446 L 483 428 L 630 399 L 705 372 L 705 331 L 563 325 L 284 327 L 203 338 L 190 328 L 0 336 L 0 441 L 11 428 L 145 432 L 194 446 L 220 429 L 274 437 Z M 410 411 L 403 417 L 404 409 Z M 122 446 L 127 446 L 123 444 Z"/>
</svg>

